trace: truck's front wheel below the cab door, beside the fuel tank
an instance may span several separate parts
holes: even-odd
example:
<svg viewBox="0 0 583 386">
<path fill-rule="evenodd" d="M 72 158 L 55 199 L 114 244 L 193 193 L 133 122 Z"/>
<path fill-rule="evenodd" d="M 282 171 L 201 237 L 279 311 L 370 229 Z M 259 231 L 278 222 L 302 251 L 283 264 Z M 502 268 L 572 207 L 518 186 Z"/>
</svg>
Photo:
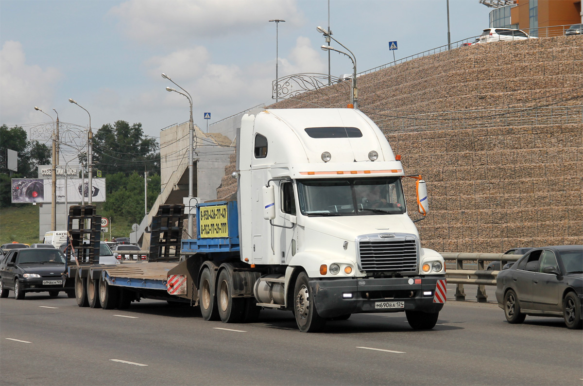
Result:
<svg viewBox="0 0 583 386">
<path fill-rule="evenodd" d="M 308 275 L 305 272 L 301 272 L 297 276 L 294 294 L 294 315 L 296 315 L 297 327 L 301 332 L 321 331 L 326 320 L 318 315 L 314 294 L 312 294 L 312 289 L 308 284 Z"/>
</svg>

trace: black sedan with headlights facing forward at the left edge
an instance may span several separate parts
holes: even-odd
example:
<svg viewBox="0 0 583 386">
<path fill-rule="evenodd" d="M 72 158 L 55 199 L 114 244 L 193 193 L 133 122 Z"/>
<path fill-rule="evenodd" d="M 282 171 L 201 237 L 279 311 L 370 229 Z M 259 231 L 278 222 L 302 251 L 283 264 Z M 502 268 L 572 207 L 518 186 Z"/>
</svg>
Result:
<svg viewBox="0 0 583 386">
<path fill-rule="evenodd" d="M 26 292 L 47 292 L 58 296 L 64 291 L 75 296 L 73 283 L 63 280 L 65 255 L 55 248 L 23 248 L 10 250 L 0 262 L 0 297 L 8 297 L 10 290 L 15 299 L 24 299 Z"/>
</svg>

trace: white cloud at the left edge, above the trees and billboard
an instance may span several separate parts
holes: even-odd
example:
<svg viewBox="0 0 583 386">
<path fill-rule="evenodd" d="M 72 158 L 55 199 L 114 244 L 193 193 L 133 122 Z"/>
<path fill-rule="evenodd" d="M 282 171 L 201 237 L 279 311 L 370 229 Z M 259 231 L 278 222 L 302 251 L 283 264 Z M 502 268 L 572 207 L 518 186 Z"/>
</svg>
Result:
<svg viewBox="0 0 583 386">
<path fill-rule="evenodd" d="M 48 120 L 44 114 L 35 111 L 34 106 L 54 116 L 50 104 L 54 100 L 55 85 L 62 79 L 57 69 L 42 69 L 38 65 L 26 64 L 22 44 L 18 41 L 4 43 L 0 51 L 0 68 L 2 123 L 23 124 Z"/>
</svg>

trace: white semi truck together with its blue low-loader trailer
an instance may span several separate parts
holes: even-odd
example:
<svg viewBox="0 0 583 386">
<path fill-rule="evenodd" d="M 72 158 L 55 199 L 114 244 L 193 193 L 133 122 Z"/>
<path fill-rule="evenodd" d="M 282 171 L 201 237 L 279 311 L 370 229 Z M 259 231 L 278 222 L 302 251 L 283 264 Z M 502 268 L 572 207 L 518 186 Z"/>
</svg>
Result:
<svg viewBox="0 0 583 386">
<path fill-rule="evenodd" d="M 444 259 L 421 247 L 408 214 L 427 213 L 426 184 L 406 176 L 366 115 L 351 108 L 245 115 L 233 177 L 236 201 L 196 205 L 196 238 L 172 236 L 181 234 L 184 206 L 161 208 L 148 262 L 71 266 L 78 304 L 188 301 L 205 320 L 223 322 L 278 308 L 293 311 L 303 332 L 354 313 L 405 311 L 413 329 L 435 326 Z M 406 177 L 417 179 L 409 205 Z M 161 245 L 168 240 L 177 241 L 175 257 Z"/>
</svg>

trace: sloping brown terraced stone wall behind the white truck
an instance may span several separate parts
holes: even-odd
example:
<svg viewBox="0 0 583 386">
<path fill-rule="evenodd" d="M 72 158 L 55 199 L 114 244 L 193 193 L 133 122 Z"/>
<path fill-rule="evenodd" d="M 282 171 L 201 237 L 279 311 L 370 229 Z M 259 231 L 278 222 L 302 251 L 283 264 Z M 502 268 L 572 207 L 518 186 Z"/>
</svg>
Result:
<svg viewBox="0 0 583 386">
<path fill-rule="evenodd" d="M 359 76 L 358 89 L 406 173 L 427 180 L 424 247 L 583 244 L 583 37 L 462 47 Z M 342 107 L 347 90 L 270 108 Z M 236 190 L 229 178 L 219 196 Z M 414 183 L 405 181 L 410 213 Z"/>
</svg>

